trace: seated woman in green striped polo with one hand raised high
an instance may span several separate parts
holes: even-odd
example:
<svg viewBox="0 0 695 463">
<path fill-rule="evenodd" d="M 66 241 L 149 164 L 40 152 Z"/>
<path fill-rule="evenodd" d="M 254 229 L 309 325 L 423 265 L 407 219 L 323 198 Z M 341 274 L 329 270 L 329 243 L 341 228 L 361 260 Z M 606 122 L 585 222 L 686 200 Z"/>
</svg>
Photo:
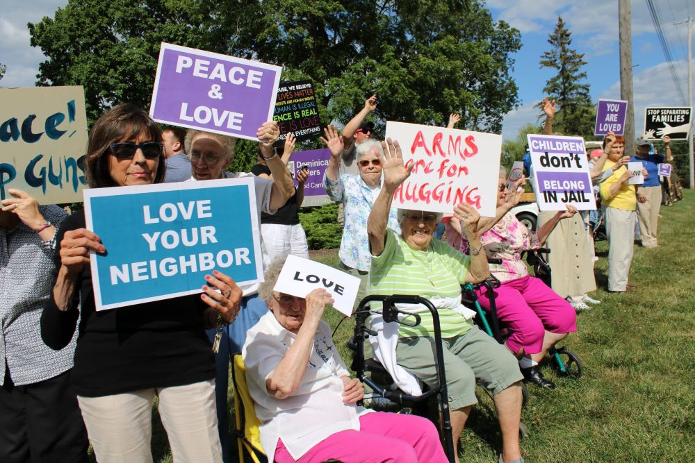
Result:
<svg viewBox="0 0 695 463">
<path fill-rule="evenodd" d="M 477 234 L 480 215 L 471 205 L 454 208 L 454 219 L 471 243 L 468 257 L 438 239 L 432 239 L 441 214 L 399 210 L 401 234 L 386 227 L 395 190 L 410 176 L 412 166 L 403 165 L 398 142 L 382 144 L 384 159 L 382 191 L 369 214 L 372 264 L 368 294 L 414 294 L 430 299 L 439 314 L 444 364 L 452 410 L 455 441 L 466 424 L 475 398 L 476 381 L 493 394 L 502 430 L 500 462 L 523 462 L 518 444 L 521 421 L 521 372 L 512 353 L 479 330 L 473 311 L 461 305 L 461 285 L 480 283 L 489 276 L 489 265 Z M 375 357 L 409 394 L 419 394 L 418 381 L 436 385 L 434 327 L 432 315 L 421 305 L 399 306 L 417 313 L 416 327 L 384 323 L 373 317 L 377 330 Z M 458 457 L 457 457 L 458 461 Z"/>
</svg>

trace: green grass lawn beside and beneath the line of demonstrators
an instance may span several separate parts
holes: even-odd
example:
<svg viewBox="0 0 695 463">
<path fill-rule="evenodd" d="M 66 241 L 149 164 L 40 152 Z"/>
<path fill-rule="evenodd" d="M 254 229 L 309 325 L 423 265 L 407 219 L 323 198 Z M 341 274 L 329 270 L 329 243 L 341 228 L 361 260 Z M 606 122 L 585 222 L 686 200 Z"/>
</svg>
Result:
<svg viewBox="0 0 695 463">
<path fill-rule="evenodd" d="M 557 389 L 529 387 L 526 461 L 695 461 L 695 192 L 683 194 L 685 201 L 662 208 L 661 246 L 635 246 L 630 283 L 638 289 L 605 292 L 607 243 L 597 244 L 600 289 L 592 296 L 602 303 L 580 313 L 578 332 L 560 344 L 580 355 L 584 375 L 555 378 L 546 368 Z M 337 266 L 335 255 L 322 261 Z M 333 327 L 340 318 L 327 311 Z M 352 326 L 343 321 L 335 335 L 347 364 Z M 462 462 L 496 462 L 500 451 L 494 408 L 479 397 L 461 437 Z M 155 461 L 171 461 L 158 418 L 153 448 Z"/>
</svg>

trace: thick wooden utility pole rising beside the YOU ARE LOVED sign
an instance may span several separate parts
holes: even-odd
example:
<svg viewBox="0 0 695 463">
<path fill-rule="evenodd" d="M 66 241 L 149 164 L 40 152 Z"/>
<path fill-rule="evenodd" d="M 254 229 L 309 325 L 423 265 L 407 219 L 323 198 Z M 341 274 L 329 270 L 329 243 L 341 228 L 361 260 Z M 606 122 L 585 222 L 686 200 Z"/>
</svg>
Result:
<svg viewBox="0 0 695 463">
<path fill-rule="evenodd" d="M 620 99 L 628 102 L 625 115 L 625 154 L 635 155 L 635 107 L 632 102 L 632 12 L 630 0 L 618 1 L 620 41 Z"/>
</svg>

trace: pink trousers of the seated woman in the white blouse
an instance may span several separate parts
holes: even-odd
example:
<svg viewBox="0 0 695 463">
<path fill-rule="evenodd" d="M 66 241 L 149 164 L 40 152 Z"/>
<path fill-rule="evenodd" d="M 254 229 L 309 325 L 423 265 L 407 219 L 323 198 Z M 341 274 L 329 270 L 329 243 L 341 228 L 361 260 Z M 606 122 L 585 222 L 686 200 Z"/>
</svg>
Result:
<svg viewBox="0 0 695 463">
<path fill-rule="evenodd" d="M 282 440 L 277 441 L 277 463 L 446 463 L 439 433 L 421 416 L 373 412 L 359 417 L 359 431 L 336 432 L 294 460 Z"/>
</svg>

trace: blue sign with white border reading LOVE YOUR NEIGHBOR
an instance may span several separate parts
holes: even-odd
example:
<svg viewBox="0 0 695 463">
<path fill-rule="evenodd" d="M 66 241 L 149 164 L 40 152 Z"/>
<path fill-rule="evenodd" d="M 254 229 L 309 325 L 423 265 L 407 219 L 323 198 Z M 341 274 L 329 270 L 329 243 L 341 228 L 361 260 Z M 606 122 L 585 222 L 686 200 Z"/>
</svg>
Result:
<svg viewBox="0 0 695 463">
<path fill-rule="evenodd" d="M 253 178 L 84 191 L 97 310 L 202 292 L 217 269 L 238 284 L 263 280 Z M 114 211 L 118 211 L 114 214 Z"/>
</svg>

